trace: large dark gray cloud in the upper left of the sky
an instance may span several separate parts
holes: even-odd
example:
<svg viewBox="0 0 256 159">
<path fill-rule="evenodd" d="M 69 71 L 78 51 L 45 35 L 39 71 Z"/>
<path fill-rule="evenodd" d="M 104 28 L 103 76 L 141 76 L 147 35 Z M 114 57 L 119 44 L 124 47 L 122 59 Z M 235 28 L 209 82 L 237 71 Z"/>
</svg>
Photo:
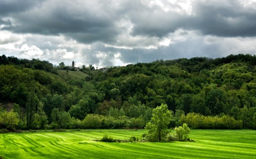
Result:
<svg viewBox="0 0 256 159">
<path fill-rule="evenodd" d="M 79 2 L 79 1 L 78 1 Z M 38 8 L 13 15 L 4 30 L 41 35 L 63 34 L 79 42 L 111 41 L 118 34 L 114 15 L 94 2 L 47 1 Z"/>
</svg>

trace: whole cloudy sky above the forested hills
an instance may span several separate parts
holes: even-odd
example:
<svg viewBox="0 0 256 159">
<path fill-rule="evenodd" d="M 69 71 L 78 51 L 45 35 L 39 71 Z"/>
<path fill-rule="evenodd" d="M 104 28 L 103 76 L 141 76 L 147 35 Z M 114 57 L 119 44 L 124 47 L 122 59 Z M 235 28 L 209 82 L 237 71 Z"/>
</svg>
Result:
<svg viewBox="0 0 256 159">
<path fill-rule="evenodd" d="M 80 67 L 256 55 L 256 0 L 0 0 L 0 55 Z"/>
</svg>

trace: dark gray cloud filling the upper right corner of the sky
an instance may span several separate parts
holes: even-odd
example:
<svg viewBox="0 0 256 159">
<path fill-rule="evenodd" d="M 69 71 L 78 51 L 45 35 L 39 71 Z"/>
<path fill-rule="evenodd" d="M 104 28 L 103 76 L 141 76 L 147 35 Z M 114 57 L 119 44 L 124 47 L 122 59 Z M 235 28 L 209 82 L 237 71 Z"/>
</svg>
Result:
<svg viewBox="0 0 256 159">
<path fill-rule="evenodd" d="M 226 6 L 222 4 L 226 3 Z M 253 37 L 256 35 L 256 8 L 250 10 L 238 1 L 221 1 L 215 7 L 212 4 L 196 3 L 194 28 L 205 35 L 221 37 Z M 251 4 L 253 5 L 253 4 Z M 254 2 L 254 6 L 256 3 Z"/>
</svg>

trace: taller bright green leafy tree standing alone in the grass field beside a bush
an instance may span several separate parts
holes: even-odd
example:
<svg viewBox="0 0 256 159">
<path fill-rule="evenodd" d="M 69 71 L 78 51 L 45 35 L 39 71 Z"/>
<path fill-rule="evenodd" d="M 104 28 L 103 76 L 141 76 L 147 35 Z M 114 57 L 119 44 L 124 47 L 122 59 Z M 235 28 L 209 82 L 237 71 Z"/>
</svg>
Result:
<svg viewBox="0 0 256 159">
<path fill-rule="evenodd" d="M 172 113 L 167 109 L 166 104 L 153 109 L 151 121 L 146 124 L 147 138 L 150 141 L 161 142 L 169 133 L 167 125 L 170 122 Z"/>
</svg>

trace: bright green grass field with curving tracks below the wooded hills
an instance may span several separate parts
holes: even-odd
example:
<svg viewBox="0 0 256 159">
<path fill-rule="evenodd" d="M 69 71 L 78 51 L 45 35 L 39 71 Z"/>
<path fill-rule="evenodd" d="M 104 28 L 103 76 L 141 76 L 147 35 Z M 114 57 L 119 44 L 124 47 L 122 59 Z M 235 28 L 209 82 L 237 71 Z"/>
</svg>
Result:
<svg viewBox="0 0 256 159">
<path fill-rule="evenodd" d="M 173 131 L 174 132 L 174 131 Z M 3 158 L 256 158 L 256 130 L 191 130 L 196 142 L 103 143 L 145 130 L 81 130 L 0 134 Z"/>
</svg>

